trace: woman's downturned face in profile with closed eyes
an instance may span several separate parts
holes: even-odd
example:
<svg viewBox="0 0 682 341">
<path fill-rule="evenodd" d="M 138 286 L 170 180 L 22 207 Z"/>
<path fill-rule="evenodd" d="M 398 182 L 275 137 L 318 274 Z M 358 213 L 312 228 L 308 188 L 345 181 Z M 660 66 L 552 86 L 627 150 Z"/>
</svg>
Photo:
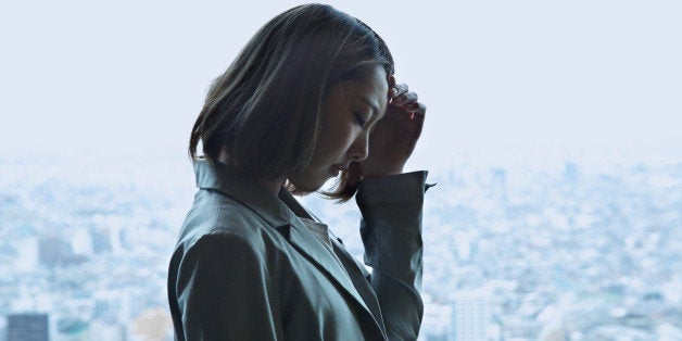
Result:
<svg viewBox="0 0 682 341">
<path fill-rule="evenodd" d="M 331 87 L 323 103 L 319 139 L 305 169 L 289 180 L 300 190 L 312 192 L 367 157 L 369 131 L 383 117 L 389 85 L 386 71 L 377 66 L 362 80 L 342 81 Z"/>
</svg>

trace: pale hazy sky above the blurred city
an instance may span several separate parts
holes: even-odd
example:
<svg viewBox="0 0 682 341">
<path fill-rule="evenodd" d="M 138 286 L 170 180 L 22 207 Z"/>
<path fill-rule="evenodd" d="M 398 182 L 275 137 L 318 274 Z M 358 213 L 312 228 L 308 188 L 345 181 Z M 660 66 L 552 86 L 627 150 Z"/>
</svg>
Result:
<svg viewBox="0 0 682 341">
<path fill-rule="evenodd" d="M 3 1 L 0 150 L 184 152 L 211 80 L 298 3 Z M 681 1 L 329 3 L 428 105 L 422 157 L 682 146 Z"/>
</svg>

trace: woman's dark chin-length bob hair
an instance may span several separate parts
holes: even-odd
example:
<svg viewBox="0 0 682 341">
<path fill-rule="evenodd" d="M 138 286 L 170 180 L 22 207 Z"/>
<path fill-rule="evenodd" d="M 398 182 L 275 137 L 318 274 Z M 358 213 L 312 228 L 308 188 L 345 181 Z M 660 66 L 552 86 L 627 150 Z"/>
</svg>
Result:
<svg viewBox="0 0 682 341">
<path fill-rule="evenodd" d="M 214 80 L 192 127 L 190 157 L 217 163 L 225 152 L 228 166 L 256 179 L 300 172 L 317 143 L 328 89 L 362 80 L 377 65 L 393 74 L 386 43 L 359 20 L 325 4 L 288 10 L 266 23 Z M 359 180 L 359 167 L 352 166 L 326 194 L 348 200 Z"/>
</svg>

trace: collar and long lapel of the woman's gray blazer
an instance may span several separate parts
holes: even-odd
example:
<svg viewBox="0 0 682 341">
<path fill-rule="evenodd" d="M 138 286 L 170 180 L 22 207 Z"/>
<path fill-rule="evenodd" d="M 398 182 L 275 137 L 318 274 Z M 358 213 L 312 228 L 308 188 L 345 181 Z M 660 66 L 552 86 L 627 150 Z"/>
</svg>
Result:
<svg viewBox="0 0 682 341">
<path fill-rule="evenodd" d="M 299 214 L 305 218 L 313 218 L 288 190 L 282 189 L 279 198 L 275 197 L 254 179 L 240 176 L 225 164 L 212 165 L 206 160 L 194 161 L 194 173 L 197 187 L 223 192 L 261 216 L 271 228 L 283 236 L 293 249 L 352 296 L 353 301 L 361 305 L 375 325 L 381 329 L 380 317 L 371 314 L 345 269 L 331 258 L 329 251 L 296 216 Z"/>
</svg>

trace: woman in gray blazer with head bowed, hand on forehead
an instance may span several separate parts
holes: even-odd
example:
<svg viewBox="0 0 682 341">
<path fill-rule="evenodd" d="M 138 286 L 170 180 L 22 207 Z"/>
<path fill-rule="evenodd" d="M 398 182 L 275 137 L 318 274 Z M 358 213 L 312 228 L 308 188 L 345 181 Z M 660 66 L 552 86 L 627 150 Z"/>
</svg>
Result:
<svg viewBox="0 0 682 341">
<path fill-rule="evenodd" d="M 192 129 L 199 192 L 168 274 L 176 339 L 416 339 L 426 172 L 402 173 L 424 114 L 361 21 L 308 4 L 265 24 Z M 291 195 L 337 175 L 326 194 L 357 192 L 371 274 Z"/>
</svg>

